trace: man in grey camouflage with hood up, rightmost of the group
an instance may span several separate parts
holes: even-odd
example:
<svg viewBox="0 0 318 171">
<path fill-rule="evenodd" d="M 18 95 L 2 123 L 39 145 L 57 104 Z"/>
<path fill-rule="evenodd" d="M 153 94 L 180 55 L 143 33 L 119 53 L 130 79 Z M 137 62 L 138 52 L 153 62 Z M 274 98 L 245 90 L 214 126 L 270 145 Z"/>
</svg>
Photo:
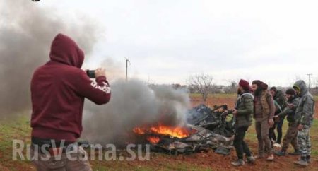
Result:
<svg viewBox="0 0 318 171">
<path fill-rule="evenodd" d="M 300 160 L 295 165 L 307 166 L 310 163 L 311 143 L 310 127 L 314 115 L 314 98 L 307 89 L 305 81 L 296 81 L 293 88 L 299 96 L 299 103 L 295 112 L 295 119 L 298 124 L 298 145 L 300 148 Z"/>
</svg>

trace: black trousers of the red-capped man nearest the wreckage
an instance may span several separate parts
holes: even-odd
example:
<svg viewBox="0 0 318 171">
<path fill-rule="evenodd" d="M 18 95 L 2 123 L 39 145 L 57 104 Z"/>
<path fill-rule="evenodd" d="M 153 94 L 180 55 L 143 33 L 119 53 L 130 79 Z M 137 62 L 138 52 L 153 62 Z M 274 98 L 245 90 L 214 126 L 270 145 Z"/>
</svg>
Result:
<svg viewBox="0 0 318 171">
<path fill-rule="evenodd" d="M 247 143 L 245 143 L 244 141 L 244 137 L 245 137 L 245 133 L 247 129 L 248 127 L 242 127 L 235 130 L 236 132 L 235 132 L 233 144 L 234 144 L 238 159 L 243 159 L 244 153 L 248 157 L 252 155 L 251 151 L 249 151 L 249 147 L 247 146 Z"/>
</svg>

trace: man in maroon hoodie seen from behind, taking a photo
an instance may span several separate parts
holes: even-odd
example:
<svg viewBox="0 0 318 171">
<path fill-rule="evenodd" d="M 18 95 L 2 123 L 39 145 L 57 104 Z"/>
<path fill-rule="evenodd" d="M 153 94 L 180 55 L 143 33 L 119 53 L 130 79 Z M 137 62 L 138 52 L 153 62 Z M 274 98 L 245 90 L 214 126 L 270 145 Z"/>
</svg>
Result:
<svg viewBox="0 0 318 171">
<path fill-rule="evenodd" d="M 87 157 L 86 160 L 69 160 L 65 156 L 70 151 L 73 157 L 87 155 L 76 145 L 82 132 L 84 98 L 97 105 L 110 101 L 105 69 L 96 69 L 95 80 L 90 80 L 81 69 L 83 51 L 62 34 L 54 38 L 49 58 L 45 65 L 36 69 L 31 81 L 31 154 L 39 156 L 33 163 L 37 170 L 91 170 Z M 54 158 L 58 153 L 62 156 L 60 160 Z M 42 160 L 41 157 L 47 155 L 50 157 Z"/>
</svg>

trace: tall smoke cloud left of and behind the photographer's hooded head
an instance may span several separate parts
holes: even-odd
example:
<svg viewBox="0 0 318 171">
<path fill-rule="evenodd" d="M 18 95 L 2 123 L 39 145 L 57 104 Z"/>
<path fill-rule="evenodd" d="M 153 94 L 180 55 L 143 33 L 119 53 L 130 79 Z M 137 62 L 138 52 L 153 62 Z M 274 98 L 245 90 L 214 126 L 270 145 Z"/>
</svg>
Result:
<svg viewBox="0 0 318 171">
<path fill-rule="evenodd" d="M 30 110 L 30 78 L 49 59 L 57 33 L 73 37 L 88 54 L 98 38 L 98 27 L 86 18 L 66 23 L 54 9 L 33 1 L 0 0 L 0 117 Z M 64 20 L 62 21 L 61 18 Z M 81 19 L 81 20 L 80 20 Z"/>
</svg>

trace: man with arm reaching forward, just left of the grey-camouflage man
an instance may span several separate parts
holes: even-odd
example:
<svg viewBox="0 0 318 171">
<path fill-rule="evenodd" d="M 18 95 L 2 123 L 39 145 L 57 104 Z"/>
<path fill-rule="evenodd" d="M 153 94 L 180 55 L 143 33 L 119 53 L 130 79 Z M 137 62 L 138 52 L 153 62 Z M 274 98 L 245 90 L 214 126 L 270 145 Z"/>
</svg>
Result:
<svg viewBox="0 0 318 171">
<path fill-rule="evenodd" d="M 296 97 L 295 90 L 293 88 L 290 88 L 286 90 L 286 98 L 288 99 L 287 104 L 283 112 L 277 114 L 274 118 L 276 120 L 283 119 L 287 116 L 288 121 L 288 129 L 286 131 L 286 134 L 283 138 L 283 147 L 281 148 L 281 151 L 278 151 L 276 155 L 282 156 L 285 155 L 289 144 L 294 148 L 294 153 L 289 153 L 290 155 L 299 155 L 299 146 L 297 142 L 297 122 L 295 122 L 295 110 L 298 106 L 299 98 Z"/>
</svg>

